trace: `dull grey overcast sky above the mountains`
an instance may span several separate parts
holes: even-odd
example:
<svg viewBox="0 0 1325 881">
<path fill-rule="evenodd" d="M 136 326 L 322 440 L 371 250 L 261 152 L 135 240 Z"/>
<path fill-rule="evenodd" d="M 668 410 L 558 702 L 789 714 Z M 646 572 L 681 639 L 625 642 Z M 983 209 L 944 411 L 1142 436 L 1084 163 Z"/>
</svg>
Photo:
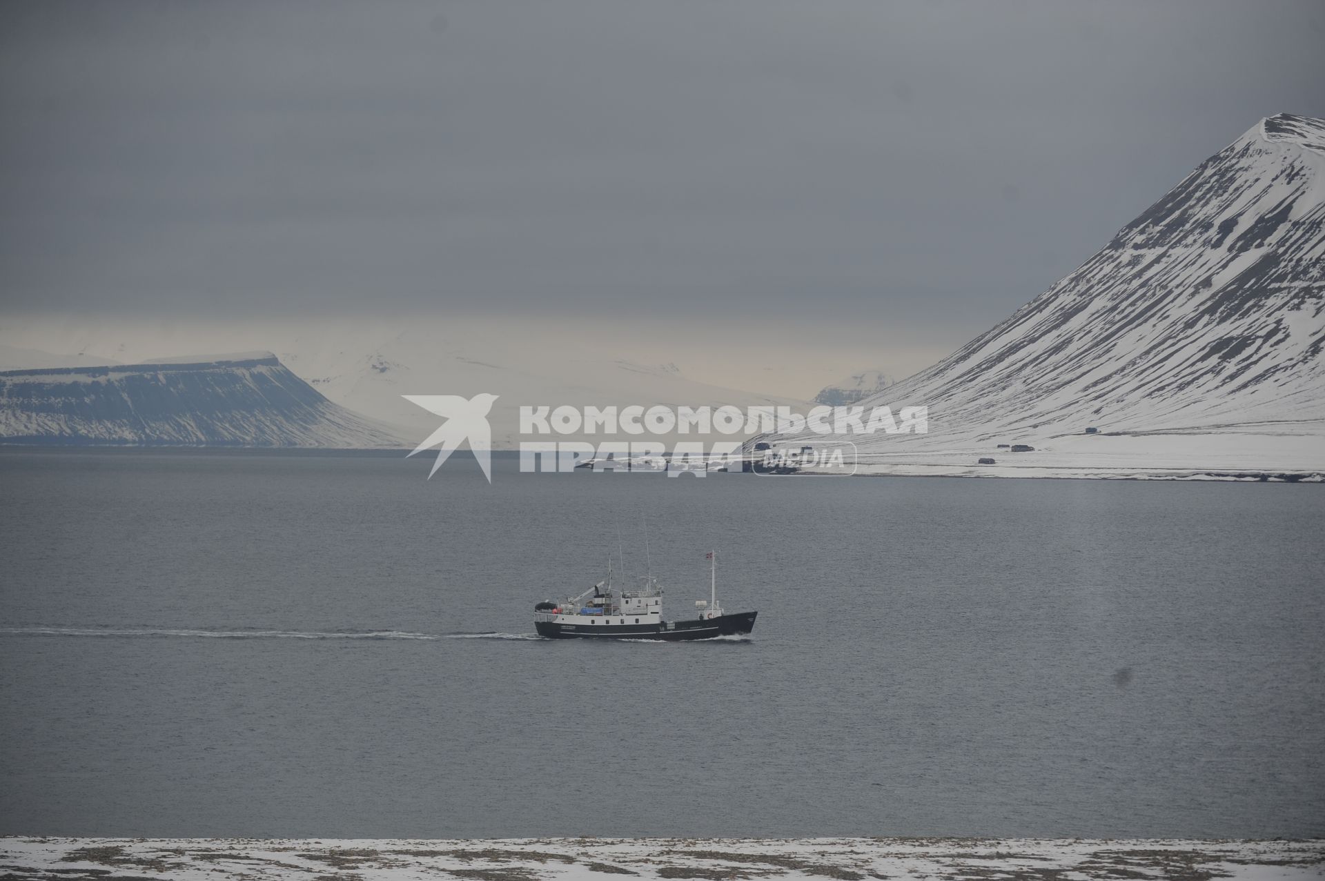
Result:
<svg viewBox="0 0 1325 881">
<path fill-rule="evenodd" d="M 1325 115 L 1322 46 L 1318 0 L 5 3 L 0 321 L 758 319 L 909 372 Z"/>
</svg>

